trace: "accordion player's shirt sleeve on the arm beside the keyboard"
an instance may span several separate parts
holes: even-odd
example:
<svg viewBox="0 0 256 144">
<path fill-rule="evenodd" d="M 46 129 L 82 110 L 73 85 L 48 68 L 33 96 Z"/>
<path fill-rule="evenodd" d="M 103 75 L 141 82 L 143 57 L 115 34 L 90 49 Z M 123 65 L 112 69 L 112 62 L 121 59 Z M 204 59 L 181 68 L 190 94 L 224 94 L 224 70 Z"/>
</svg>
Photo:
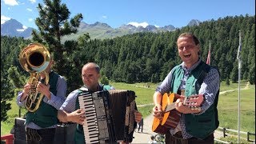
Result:
<svg viewBox="0 0 256 144">
<path fill-rule="evenodd" d="M 66 98 L 65 102 L 59 108 L 59 110 L 65 110 L 68 113 L 71 113 L 75 110 L 75 102 L 78 97 L 79 90 L 72 91 Z"/>
</svg>

